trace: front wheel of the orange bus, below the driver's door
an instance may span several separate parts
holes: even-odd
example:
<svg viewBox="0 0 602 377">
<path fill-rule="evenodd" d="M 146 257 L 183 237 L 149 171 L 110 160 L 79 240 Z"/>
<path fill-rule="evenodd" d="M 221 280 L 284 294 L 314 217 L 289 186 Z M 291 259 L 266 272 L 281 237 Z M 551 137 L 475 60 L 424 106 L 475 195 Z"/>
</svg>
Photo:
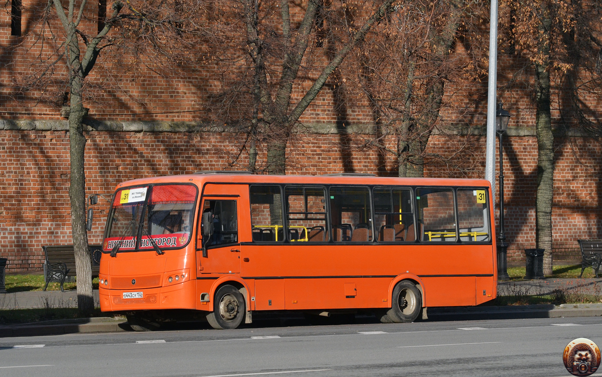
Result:
<svg viewBox="0 0 602 377">
<path fill-rule="evenodd" d="M 245 313 L 243 295 L 234 286 L 223 286 L 216 292 L 213 311 L 207 314 L 207 322 L 214 329 L 237 328 Z"/>
</svg>

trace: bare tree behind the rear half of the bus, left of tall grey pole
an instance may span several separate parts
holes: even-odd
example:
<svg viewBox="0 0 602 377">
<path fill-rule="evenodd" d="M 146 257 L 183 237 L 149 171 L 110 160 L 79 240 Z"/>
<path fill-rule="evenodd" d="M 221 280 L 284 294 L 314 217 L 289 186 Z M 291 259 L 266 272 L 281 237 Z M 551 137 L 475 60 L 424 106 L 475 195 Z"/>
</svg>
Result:
<svg viewBox="0 0 602 377">
<path fill-rule="evenodd" d="M 468 3 L 402 2 L 356 54 L 361 67 L 357 81 L 377 126 L 370 144 L 396 157 L 400 177 L 423 176 L 424 153 L 444 105 L 445 84 L 474 76 L 470 51 L 452 54 L 466 14 L 477 11 Z M 385 143 L 391 136 L 393 148 Z"/>
</svg>

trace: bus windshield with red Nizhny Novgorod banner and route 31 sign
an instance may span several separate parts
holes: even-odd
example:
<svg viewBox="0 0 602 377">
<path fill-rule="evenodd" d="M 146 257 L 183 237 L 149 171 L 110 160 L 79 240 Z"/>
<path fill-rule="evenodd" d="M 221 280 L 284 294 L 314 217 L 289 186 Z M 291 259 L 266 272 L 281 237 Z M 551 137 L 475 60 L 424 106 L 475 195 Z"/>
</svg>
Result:
<svg viewBox="0 0 602 377">
<path fill-rule="evenodd" d="M 103 248 L 110 251 L 181 248 L 190 240 L 196 186 L 154 185 L 117 191 Z M 152 240 L 151 240 L 152 239 Z"/>
</svg>

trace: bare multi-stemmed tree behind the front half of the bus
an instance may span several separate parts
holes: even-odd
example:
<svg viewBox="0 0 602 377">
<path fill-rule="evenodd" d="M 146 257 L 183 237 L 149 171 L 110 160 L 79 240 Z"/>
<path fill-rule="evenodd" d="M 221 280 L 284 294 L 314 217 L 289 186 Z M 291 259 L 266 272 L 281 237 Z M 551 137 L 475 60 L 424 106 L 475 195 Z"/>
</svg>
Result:
<svg viewBox="0 0 602 377">
<path fill-rule="evenodd" d="M 247 135 L 249 169 L 284 174 L 286 149 L 299 118 L 350 51 L 393 12 L 394 0 L 306 2 L 224 0 L 222 19 L 240 20 L 220 61 L 225 90 L 216 98 L 220 116 L 235 120 Z M 293 93 L 295 92 L 295 93 Z M 244 115 L 244 109 L 250 117 Z M 265 165 L 258 168 L 258 144 Z"/>
</svg>

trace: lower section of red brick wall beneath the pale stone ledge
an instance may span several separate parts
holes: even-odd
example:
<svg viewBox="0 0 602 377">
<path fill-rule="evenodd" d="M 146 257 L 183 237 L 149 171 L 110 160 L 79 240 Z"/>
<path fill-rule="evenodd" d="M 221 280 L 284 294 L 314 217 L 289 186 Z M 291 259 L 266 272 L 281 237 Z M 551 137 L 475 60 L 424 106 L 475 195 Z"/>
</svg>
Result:
<svg viewBox="0 0 602 377">
<path fill-rule="evenodd" d="M 117 183 L 138 177 L 230 169 L 232 132 L 114 132 L 88 131 L 85 155 L 87 194 L 110 197 Z M 359 149 L 366 134 L 300 134 L 287 150 L 287 174 L 327 174 L 343 171 L 393 175 L 391 156 L 379 159 L 373 149 Z M 458 150 L 464 138 L 474 146 L 464 153 L 480 161 L 480 170 L 465 171 L 441 165 Z M 0 130 L 0 242 L 8 272 L 42 268 L 42 245 L 70 243 L 69 140 L 63 130 Z M 602 237 L 600 166 L 602 147 L 588 138 L 560 138 L 556 144 L 554 176 L 554 259 L 574 259 L 577 239 Z M 433 135 L 429 152 L 438 159 L 425 176 L 482 177 L 483 136 Z M 261 159 L 261 153 L 259 159 Z M 241 156 L 244 166 L 246 155 Z M 382 167 L 379 164 L 383 163 Z M 535 136 L 510 136 L 504 147 L 504 208 L 509 262 L 535 247 Z M 95 206 L 89 242 L 101 242 L 108 201 Z M 498 215 L 496 214 L 496 218 Z"/>
</svg>

